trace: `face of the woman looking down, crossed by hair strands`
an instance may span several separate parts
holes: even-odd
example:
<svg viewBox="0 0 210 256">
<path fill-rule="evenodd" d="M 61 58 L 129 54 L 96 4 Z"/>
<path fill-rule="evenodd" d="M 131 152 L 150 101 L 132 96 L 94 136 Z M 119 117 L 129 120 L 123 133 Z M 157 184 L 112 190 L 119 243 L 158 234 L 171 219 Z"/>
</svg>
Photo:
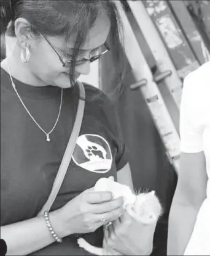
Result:
<svg viewBox="0 0 210 256">
<path fill-rule="evenodd" d="M 95 27 L 93 27 L 88 33 L 87 41 L 80 51 L 79 59 L 82 57 L 90 57 L 91 51 L 99 46 L 102 46 L 107 39 L 110 30 L 110 21 L 106 14 L 102 14 L 96 21 Z M 61 56 L 68 56 L 72 50 L 68 48 L 73 47 L 73 43 L 69 42 L 67 46 L 64 44 L 63 38 L 47 36 L 50 43 L 55 47 L 56 51 Z M 30 43 L 30 59 L 28 64 L 29 70 L 43 85 L 59 86 L 61 88 L 69 88 L 69 69 L 63 67 L 58 55 L 47 43 L 44 38 L 31 39 Z M 71 59 L 69 57 L 69 59 Z M 80 74 L 88 75 L 90 72 L 90 62 L 76 66 L 76 78 Z"/>
</svg>

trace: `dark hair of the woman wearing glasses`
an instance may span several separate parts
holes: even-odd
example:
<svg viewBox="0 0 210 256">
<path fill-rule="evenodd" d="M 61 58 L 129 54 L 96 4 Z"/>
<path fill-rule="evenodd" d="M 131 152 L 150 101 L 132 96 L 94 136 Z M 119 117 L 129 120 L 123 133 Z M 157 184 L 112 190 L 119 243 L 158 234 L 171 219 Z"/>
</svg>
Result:
<svg viewBox="0 0 210 256">
<path fill-rule="evenodd" d="M 122 67 L 123 38 L 122 22 L 113 1 L 109 0 L 1 0 L 1 35 L 7 33 L 15 36 L 14 23 L 18 17 L 23 17 L 31 24 L 31 34 L 34 36 L 64 36 L 65 41 L 74 40 L 75 60 L 79 48 L 85 43 L 88 31 L 98 22 L 101 11 L 106 12 L 111 20 L 112 55 L 116 67 Z M 9 26 L 8 26 L 9 25 Z M 121 65 L 119 65 L 119 63 Z M 121 90 L 124 67 L 117 70 L 114 83 L 115 89 Z M 71 67 L 70 80 L 74 84 L 75 67 Z"/>
</svg>

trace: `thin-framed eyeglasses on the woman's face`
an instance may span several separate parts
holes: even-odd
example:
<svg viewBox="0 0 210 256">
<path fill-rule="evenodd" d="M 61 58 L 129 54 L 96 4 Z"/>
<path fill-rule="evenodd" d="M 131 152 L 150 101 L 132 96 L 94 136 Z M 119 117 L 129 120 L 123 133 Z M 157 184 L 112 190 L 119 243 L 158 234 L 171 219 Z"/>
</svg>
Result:
<svg viewBox="0 0 210 256">
<path fill-rule="evenodd" d="M 44 35 L 42 35 L 42 36 L 47 41 L 47 43 L 49 43 L 49 45 L 52 47 L 53 51 L 55 51 L 55 53 L 58 55 L 61 63 L 63 64 L 63 67 L 70 67 L 71 64 L 73 64 L 73 65 L 82 65 L 82 64 L 85 64 L 86 62 L 93 62 L 95 60 L 98 60 L 101 56 L 104 56 L 104 54 L 106 54 L 108 51 L 111 51 L 108 44 L 104 43 L 103 46 L 105 47 L 105 50 L 103 52 L 101 52 L 100 54 L 96 54 L 95 56 L 90 57 L 90 59 L 82 58 L 82 59 L 79 59 L 79 60 L 71 60 L 71 59 L 65 60 L 62 56 L 60 56 L 58 51 L 56 51 L 55 47 L 52 45 L 52 43 L 50 43 L 49 39 L 47 39 Z"/>
</svg>

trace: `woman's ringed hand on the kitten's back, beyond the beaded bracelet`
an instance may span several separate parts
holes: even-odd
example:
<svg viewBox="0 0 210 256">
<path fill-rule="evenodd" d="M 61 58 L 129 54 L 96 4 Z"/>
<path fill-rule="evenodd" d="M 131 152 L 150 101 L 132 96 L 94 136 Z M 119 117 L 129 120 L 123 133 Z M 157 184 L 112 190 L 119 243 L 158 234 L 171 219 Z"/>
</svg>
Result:
<svg viewBox="0 0 210 256">
<path fill-rule="evenodd" d="M 124 211 L 123 197 L 112 198 L 111 192 L 96 192 L 90 188 L 57 210 L 64 236 L 90 233 L 119 218 Z"/>
</svg>

